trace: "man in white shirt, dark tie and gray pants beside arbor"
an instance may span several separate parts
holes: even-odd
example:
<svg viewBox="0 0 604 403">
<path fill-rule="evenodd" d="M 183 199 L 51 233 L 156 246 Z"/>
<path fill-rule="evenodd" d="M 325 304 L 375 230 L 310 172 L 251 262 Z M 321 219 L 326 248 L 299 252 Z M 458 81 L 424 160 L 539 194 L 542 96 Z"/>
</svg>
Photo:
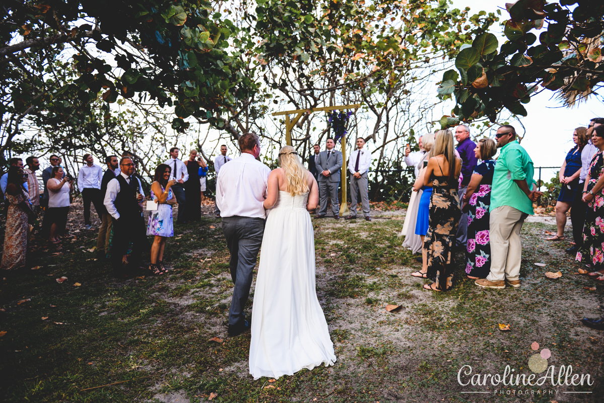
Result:
<svg viewBox="0 0 604 403">
<path fill-rule="evenodd" d="M 348 160 L 348 170 L 350 171 L 350 215 L 344 220 L 354 220 L 356 218 L 357 193 L 361 194 L 361 203 L 363 205 L 363 215 L 365 220 L 371 221 L 369 217 L 369 189 L 367 172 L 371 167 L 371 153 L 365 148 L 365 140 L 362 137 L 356 139 L 356 150 L 350 154 Z"/>
</svg>

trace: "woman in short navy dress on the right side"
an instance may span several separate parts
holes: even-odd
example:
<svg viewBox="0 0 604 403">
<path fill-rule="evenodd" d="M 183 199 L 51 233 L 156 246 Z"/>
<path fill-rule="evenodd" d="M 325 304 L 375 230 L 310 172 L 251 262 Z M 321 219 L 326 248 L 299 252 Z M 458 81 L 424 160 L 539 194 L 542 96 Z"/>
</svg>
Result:
<svg viewBox="0 0 604 403">
<path fill-rule="evenodd" d="M 574 147 L 568 151 L 567 156 L 562 162 L 562 167 L 558 173 L 561 190 L 556 202 L 556 235 L 545 238 L 547 241 L 564 240 L 564 226 L 566 225 L 566 214 L 570 209 L 575 195 L 579 192 L 579 176 L 581 174 L 581 152 L 587 144 L 586 127 L 577 127 L 573 132 Z M 574 224 L 574 223 L 573 223 Z"/>
</svg>

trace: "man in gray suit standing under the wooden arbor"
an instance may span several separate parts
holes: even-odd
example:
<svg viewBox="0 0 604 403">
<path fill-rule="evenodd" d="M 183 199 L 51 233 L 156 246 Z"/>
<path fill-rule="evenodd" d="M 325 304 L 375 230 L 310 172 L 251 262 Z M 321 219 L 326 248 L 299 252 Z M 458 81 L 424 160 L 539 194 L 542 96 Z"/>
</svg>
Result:
<svg viewBox="0 0 604 403">
<path fill-rule="evenodd" d="M 335 142 L 327 138 L 327 150 L 321 151 L 316 162 L 319 171 L 319 193 L 321 195 L 321 209 L 315 218 L 324 218 L 327 214 L 327 197 L 332 198 L 333 218 L 339 220 L 338 185 L 340 168 L 342 168 L 342 153 L 333 149 Z"/>
</svg>

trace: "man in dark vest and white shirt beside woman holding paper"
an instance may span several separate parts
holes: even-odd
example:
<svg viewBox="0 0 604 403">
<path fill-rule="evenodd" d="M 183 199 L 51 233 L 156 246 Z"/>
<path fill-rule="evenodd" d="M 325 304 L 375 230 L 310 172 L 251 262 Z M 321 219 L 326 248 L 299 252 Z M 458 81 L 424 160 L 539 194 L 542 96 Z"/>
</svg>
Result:
<svg viewBox="0 0 604 403">
<path fill-rule="evenodd" d="M 144 193 L 130 157 L 120 160 L 120 174 L 107 184 L 104 206 L 113 219 L 114 238 L 111 262 L 117 278 L 130 278 L 141 263 L 141 253 L 149 249 L 143 219 Z M 132 244 L 132 246 L 130 246 Z M 126 255 L 128 249 L 132 252 Z"/>
</svg>

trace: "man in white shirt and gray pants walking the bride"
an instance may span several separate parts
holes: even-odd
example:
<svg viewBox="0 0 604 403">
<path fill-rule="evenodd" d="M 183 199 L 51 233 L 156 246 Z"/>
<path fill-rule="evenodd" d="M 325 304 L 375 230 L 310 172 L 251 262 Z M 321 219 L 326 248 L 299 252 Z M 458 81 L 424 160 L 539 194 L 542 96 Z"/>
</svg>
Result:
<svg viewBox="0 0 604 403">
<path fill-rule="evenodd" d="M 229 266 L 235 287 L 228 316 L 228 332 L 236 336 L 249 330 L 243 308 L 252 284 L 252 271 L 262 244 L 271 168 L 256 158 L 260 139 L 255 133 L 239 138 L 241 156 L 220 168 L 216 182 L 216 204 L 222 217 L 222 232 L 231 253 Z"/>
</svg>

